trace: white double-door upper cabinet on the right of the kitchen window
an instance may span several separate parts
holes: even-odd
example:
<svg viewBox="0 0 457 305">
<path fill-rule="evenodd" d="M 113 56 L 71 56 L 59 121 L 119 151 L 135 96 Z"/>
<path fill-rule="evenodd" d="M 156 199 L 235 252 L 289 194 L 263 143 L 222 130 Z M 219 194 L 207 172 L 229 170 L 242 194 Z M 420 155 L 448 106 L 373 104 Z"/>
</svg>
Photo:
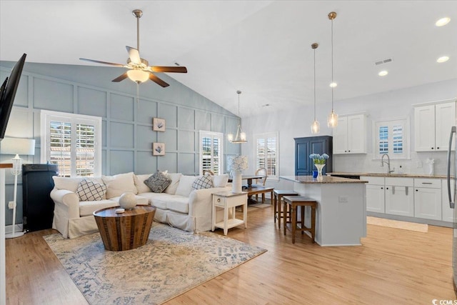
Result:
<svg viewBox="0 0 457 305">
<path fill-rule="evenodd" d="M 447 151 L 451 126 L 456 125 L 456 101 L 414 107 L 414 149 Z"/>
</svg>

